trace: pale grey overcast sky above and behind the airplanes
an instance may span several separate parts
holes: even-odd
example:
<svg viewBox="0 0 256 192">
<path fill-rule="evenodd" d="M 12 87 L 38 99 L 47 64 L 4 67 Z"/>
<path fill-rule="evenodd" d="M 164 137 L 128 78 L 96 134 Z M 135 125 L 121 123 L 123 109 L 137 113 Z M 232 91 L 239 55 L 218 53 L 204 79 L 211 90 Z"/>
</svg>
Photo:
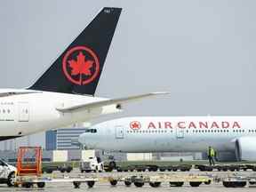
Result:
<svg viewBox="0 0 256 192">
<path fill-rule="evenodd" d="M 171 93 L 118 116 L 256 115 L 253 0 L 1 0 L 0 87 L 32 84 L 104 6 L 123 12 L 97 96 Z"/>
</svg>

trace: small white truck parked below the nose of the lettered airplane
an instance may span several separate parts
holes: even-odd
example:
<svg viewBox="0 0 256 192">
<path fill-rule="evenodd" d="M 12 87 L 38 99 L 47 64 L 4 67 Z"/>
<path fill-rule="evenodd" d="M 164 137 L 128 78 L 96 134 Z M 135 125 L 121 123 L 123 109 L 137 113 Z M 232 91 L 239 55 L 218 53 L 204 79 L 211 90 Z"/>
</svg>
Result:
<svg viewBox="0 0 256 192">
<path fill-rule="evenodd" d="M 80 162 L 81 172 L 103 172 L 104 164 L 101 162 L 100 157 L 89 157 L 86 161 Z"/>
</svg>

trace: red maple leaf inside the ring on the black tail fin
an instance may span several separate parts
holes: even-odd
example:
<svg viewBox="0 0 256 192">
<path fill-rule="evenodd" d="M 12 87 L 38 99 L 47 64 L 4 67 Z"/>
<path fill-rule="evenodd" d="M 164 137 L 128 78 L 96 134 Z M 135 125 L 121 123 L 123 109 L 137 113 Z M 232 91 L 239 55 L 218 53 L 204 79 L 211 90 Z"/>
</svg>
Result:
<svg viewBox="0 0 256 192">
<path fill-rule="evenodd" d="M 76 60 L 68 60 L 69 67 L 72 68 L 71 75 L 92 76 L 91 68 L 93 60 L 85 60 L 83 52 L 79 52 L 76 56 Z"/>
</svg>

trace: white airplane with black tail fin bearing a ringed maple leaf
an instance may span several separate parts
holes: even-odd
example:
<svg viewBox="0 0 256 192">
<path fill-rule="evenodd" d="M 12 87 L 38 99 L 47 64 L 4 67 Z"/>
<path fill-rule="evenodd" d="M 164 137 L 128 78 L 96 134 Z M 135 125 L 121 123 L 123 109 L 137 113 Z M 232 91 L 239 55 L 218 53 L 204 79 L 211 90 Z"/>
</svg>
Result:
<svg viewBox="0 0 256 192">
<path fill-rule="evenodd" d="M 110 100 L 94 97 L 121 8 L 103 8 L 28 89 L 0 89 L 0 140 L 89 121 L 122 111 L 153 92 Z"/>
</svg>

